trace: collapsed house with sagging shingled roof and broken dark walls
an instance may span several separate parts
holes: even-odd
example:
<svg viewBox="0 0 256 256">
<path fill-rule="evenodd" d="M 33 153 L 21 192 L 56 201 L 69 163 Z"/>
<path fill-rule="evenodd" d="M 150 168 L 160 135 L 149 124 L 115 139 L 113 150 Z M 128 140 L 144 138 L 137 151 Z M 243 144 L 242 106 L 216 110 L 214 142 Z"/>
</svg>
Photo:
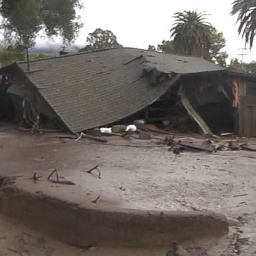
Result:
<svg viewBox="0 0 256 256">
<path fill-rule="evenodd" d="M 13 63 L 0 75 L 0 119 L 35 129 L 79 133 L 143 118 L 256 136 L 256 78 L 200 57 L 118 48 Z"/>
</svg>

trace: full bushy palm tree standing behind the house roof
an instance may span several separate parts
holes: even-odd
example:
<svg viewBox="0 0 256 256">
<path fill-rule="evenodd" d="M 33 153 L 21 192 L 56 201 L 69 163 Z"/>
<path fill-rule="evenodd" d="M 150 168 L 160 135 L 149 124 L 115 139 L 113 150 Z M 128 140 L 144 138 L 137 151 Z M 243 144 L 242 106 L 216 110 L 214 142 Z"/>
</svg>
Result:
<svg viewBox="0 0 256 256">
<path fill-rule="evenodd" d="M 175 51 L 188 55 L 207 57 L 211 47 L 211 24 L 205 21 L 206 14 L 197 11 L 183 11 L 173 15 L 171 37 Z"/>
</svg>

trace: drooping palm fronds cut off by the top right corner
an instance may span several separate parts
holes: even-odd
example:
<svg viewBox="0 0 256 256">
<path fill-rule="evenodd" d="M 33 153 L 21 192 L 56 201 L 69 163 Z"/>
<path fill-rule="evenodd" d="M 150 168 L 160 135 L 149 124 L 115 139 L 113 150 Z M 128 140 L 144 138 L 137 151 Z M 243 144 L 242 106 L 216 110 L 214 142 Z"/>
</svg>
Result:
<svg viewBox="0 0 256 256">
<path fill-rule="evenodd" d="M 232 3 L 231 15 L 237 16 L 239 24 L 238 33 L 245 38 L 245 43 L 253 46 L 253 39 L 256 33 L 256 1 L 255 0 L 235 0 Z"/>
</svg>

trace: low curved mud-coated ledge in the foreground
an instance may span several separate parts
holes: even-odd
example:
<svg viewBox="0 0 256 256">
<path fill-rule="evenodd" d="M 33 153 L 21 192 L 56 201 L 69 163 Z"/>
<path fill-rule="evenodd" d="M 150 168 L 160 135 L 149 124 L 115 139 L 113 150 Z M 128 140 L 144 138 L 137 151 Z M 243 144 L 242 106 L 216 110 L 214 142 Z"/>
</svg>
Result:
<svg viewBox="0 0 256 256">
<path fill-rule="evenodd" d="M 55 239 L 80 247 L 158 247 L 173 240 L 221 236 L 228 231 L 225 216 L 213 212 L 137 211 L 78 205 L 29 193 L 0 182 L 0 213 Z"/>
</svg>

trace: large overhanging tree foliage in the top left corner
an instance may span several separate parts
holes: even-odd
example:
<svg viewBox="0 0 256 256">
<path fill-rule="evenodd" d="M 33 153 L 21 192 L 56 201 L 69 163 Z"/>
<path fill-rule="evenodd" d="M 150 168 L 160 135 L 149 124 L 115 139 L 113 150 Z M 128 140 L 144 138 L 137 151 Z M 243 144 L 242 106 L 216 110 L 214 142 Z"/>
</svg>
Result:
<svg viewBox="0 0 256 256">
<path fill-rule="evenodd" d="M 48 37 L 59 35 L 63 43 L 70 43 L 81 28 L 76 8 L 81 8 L 79 0 L 2 0 L 5 39 L 32 47 L 39 31 L 45 31 Z"/>
</svg>

